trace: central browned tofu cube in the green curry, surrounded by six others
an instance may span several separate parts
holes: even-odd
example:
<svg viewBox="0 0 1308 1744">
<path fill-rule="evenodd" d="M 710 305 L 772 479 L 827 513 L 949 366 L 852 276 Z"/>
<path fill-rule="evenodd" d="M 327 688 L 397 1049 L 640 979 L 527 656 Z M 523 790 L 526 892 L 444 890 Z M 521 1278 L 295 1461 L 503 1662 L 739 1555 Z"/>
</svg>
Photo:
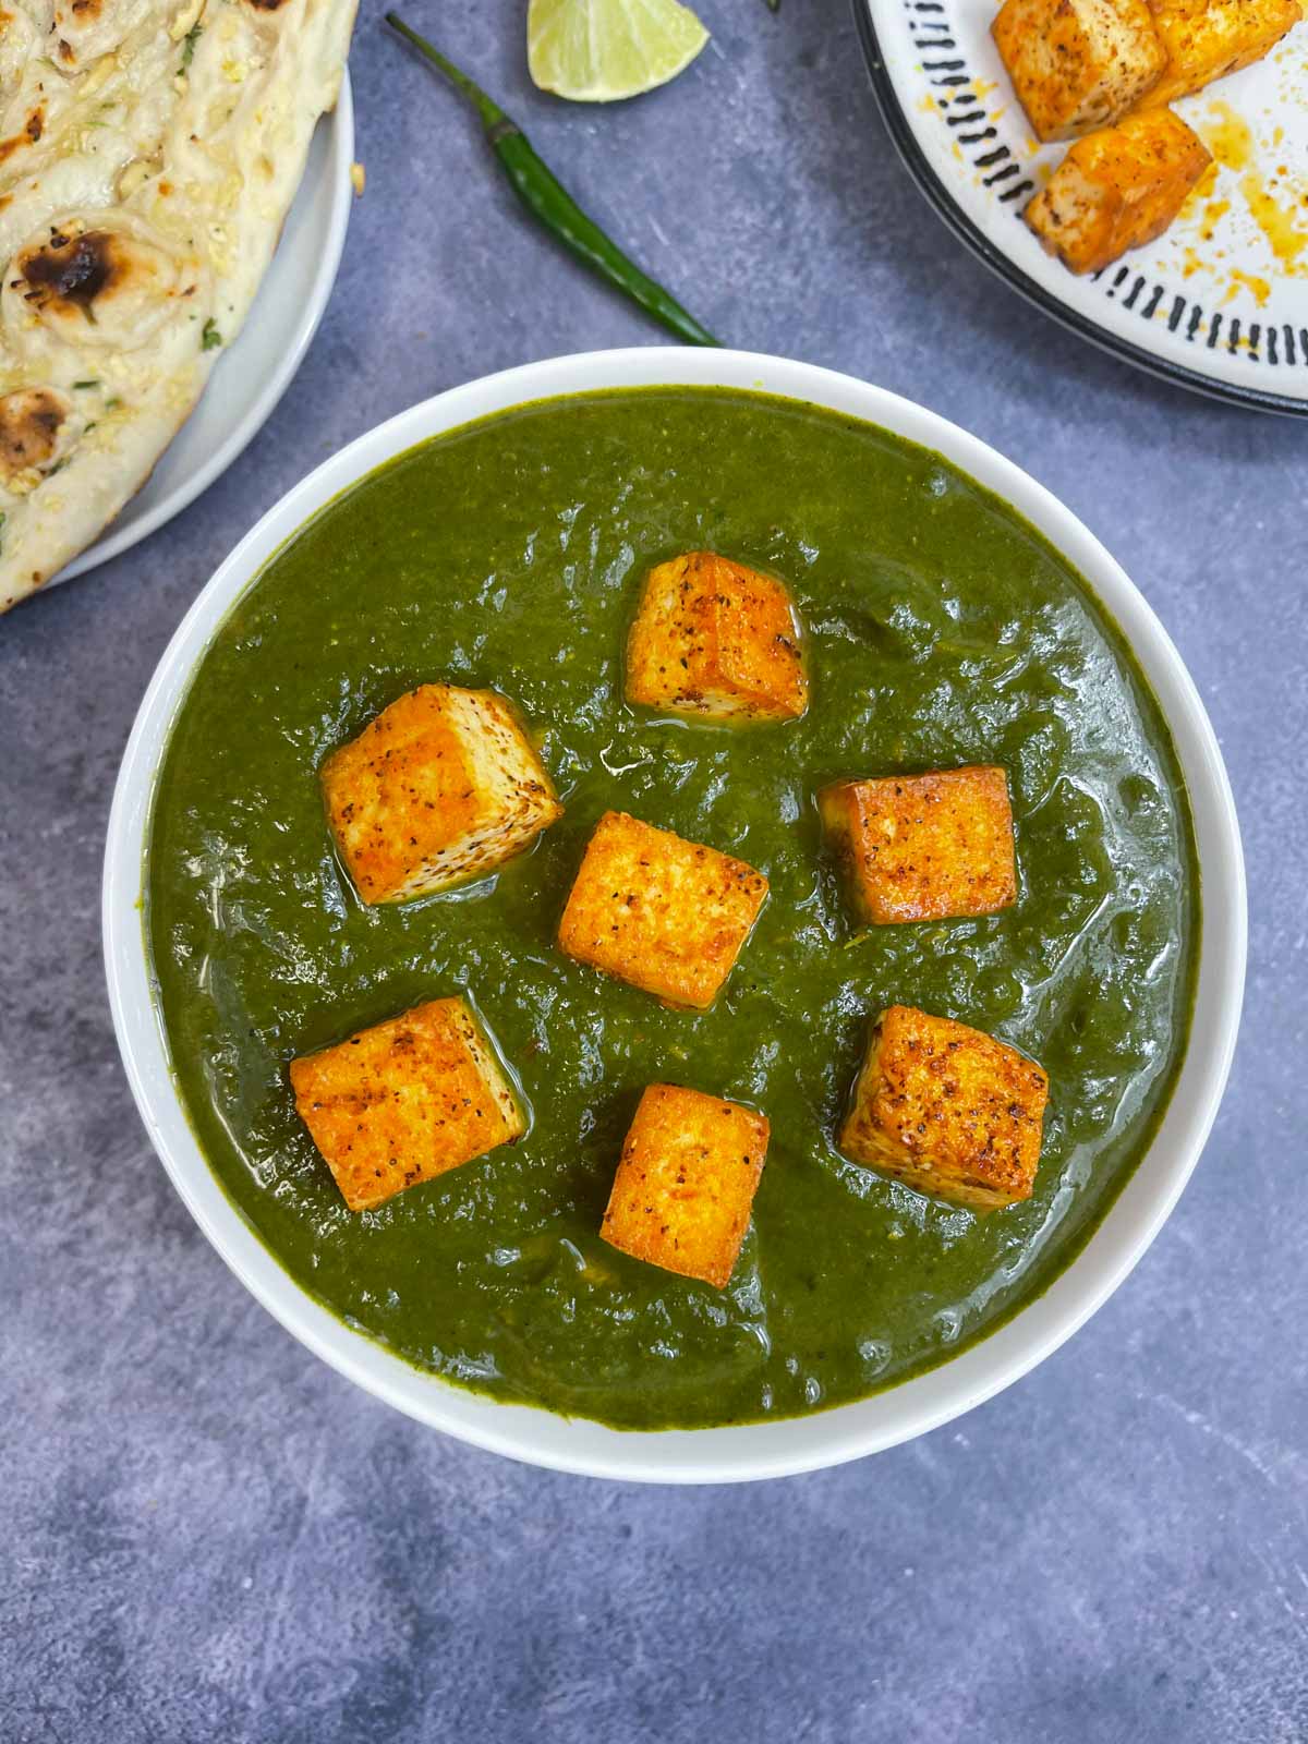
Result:
<svg viewBox="0 0 1308 1744">
<path fill-rule="evenodd" d="M 607 811 L 586 846 L 558 944 L 664 1005 L 705 1010 L 766 896 L 767 879 L 743 860 Z"/>
</svg>

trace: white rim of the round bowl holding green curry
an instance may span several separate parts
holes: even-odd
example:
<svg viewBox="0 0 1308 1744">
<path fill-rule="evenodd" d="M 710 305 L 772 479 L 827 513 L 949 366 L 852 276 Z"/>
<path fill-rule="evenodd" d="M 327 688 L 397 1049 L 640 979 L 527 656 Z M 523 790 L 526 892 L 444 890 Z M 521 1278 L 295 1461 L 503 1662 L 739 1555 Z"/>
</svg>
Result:
<svg viewBox="0 0 1308 1744">
<path fill-rule="evenodd" d="M 152 787 L 178 705 L 228 607 L 284 539 L 375 466 L 453 426 L 551 394 L 668 384 L 764 389 L 881 424 L 1012 502 L 1081 570 L 1130 640 L 1175 736 L 1195 807 L 1203 937 L 1189 1052 L 1167 1116 L 1095 1235 L 1043 1296 L 944 1367 L 856 1404 L 780 1423 L 619 1432 L 424 1374 L 352 1332 L 283 1271 L 211 1174 L 178 1100 L 150 994 L 140 898 Z M 1245 971 L 1243 860 L 1217 739 L 1167 631 L 1093 534 L 1010 460 L 907 399 L 806 363 L 678 347 L 558 358 L 455 387 L 361 436 L 283 497 L 204 588 L 150 682 L 113 794 L 103 902 L 110 1003 L 136 1106 L 192 1216 L 263 1306 L 342 1374 L 420 1423 L 537 1465 L 645 1482 L 780 1477 L 855 1460 L 970 1411 L 1057 1350 L 1153 1242 L 1203 1149 L 1235 1048 Z"/>
</svg>

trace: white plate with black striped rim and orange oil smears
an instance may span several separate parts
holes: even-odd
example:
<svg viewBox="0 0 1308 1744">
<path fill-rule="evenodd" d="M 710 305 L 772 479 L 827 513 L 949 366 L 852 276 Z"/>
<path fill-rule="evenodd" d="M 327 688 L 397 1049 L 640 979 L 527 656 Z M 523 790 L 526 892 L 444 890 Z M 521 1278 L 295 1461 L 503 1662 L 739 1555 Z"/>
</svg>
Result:
<svg viewBox="0 0 1308 1744">
<path fill-rule="evenodd" d="M 900 155 L 994 272 L 1155 375 L 1308 415 L 1308 23 L 1175 105 L 1216 169 L 1165 235 L 1080 279 L 1022 221 L 1064 146 L 1038 145 L 1013 96 L 991 40 L 996 0 L 853 3 Z"/>
</svg>

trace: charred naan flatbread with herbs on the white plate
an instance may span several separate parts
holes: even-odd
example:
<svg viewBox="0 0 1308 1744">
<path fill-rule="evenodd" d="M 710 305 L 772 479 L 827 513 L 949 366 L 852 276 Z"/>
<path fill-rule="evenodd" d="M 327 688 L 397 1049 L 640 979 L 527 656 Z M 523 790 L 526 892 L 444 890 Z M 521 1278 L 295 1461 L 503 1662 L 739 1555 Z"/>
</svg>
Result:
<svg viewBox="0 0 1308 1744">
<path fill-rule="evenodd" d="M 356 0 L 0 0 L 0 610 L 113 520 L 246 317 Z"/>
</svg>

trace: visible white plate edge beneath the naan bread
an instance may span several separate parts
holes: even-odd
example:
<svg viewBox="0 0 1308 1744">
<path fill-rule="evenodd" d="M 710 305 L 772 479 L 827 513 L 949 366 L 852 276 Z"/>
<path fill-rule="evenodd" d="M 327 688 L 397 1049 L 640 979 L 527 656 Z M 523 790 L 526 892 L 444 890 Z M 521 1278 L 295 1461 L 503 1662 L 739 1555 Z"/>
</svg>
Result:
<svg viewBox="0 0 1308 1744">
<path fill-rule="evenodd" d="M 150 481 L 94 544 L 51 577 L 49 588 L 122 556 L 171 521 L 221 478 L 272 417 L 337 283 L 354 202 L 352 162 L 354 101 L 347 73 L 335 110 L 317 124 L 300 192 L 241 337 L 213 371 L 204 398 L 164 450 Z"/>
</svg>

